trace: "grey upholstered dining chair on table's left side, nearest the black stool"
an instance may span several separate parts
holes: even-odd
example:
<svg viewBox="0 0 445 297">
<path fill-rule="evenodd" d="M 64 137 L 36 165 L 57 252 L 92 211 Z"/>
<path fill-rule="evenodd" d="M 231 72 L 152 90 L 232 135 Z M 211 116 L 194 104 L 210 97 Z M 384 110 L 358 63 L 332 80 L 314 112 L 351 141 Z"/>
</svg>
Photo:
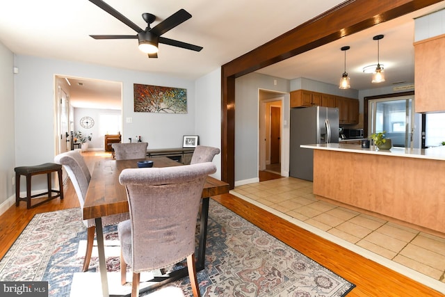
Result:
<svg viewBox="0 0 445 297">
<path fill-rule="evenodd" d="M 58 164 L 62 164 L 65 168 L 68 176 L 71 179 L 72 185 L 76 190 L 77 198 L 79 199 L 79 203 L 81 204 L 81 209 L 83 209 L 83 203 L 85 202 L 86 192 L 88 191 L 88 185 L 90 184 L 90 170 L 88 170 L 88 166 L 83 159 L 83 156 L 80 154 L 78 150 L 72 150 L 69 152 L 64 152 L 62 154 L 58 154 L 54 158 L 54 162 Z M 102 224 L 104 226 L 108 225 L 116 225 L 123 220 L 129 219 L 129 213 L 126 214 L 114 214 L 111 216 L 104 216 L 102 218 Z M 87 271 L 88 266 L 90 266 L 90 259 L 92 253 L 92 245 L 95 239 L 95 220 L 83 220 L 83 223 L 87 227 L 87 244 L 86 244 L 86 252 L 85 259 L 83 259 L 83 267 L 82 271 Z"/>
</svg>

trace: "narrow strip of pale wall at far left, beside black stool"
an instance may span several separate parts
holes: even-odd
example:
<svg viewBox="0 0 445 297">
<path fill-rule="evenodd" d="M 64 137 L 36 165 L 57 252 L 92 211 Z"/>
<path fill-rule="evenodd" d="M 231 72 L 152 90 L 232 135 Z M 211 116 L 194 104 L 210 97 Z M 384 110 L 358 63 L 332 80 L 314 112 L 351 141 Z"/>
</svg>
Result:
<svg viewBox="0 0 445 297">
<path fill-rule="evenodd" d="M 0 42 L 0 214 L 10 205 L 6 202 L 15 193 L 13 176 L 15 167 L 14 119 L 14 55 Z"/>
</svg>

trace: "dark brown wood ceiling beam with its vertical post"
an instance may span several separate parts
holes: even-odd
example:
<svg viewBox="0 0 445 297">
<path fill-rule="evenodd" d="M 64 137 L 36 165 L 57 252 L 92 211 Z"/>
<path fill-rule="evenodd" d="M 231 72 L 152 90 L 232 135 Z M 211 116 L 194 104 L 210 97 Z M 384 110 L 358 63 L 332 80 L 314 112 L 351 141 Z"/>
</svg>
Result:
<svg viewBox="0 0 445 297">
<path fill-rule="evenodd" d="M 297 26 L 221 68 L 221 179 L 235 181 L 235 79 L 305 51 L 412 13 L 439 0 L 349 0 Z"/>
</svg>

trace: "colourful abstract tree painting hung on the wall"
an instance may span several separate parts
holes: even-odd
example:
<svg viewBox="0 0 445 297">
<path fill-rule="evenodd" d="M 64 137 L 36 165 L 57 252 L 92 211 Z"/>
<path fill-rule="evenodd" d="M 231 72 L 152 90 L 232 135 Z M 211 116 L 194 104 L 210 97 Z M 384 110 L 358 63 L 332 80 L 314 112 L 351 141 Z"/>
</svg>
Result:
<svg viewBox="0 0 445 297">
<path fill-rule="evenodd" d="M 133 84 L 134 111 L 139 113 L 187 113 L 187 90 Z"/>
</svg>

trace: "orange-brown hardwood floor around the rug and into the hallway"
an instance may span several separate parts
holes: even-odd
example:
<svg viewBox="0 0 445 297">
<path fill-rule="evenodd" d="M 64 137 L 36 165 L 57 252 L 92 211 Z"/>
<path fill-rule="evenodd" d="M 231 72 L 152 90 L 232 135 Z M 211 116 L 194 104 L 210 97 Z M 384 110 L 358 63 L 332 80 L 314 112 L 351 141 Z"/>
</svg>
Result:
<svg viewBox="0 0 445 297">
<path fill-rule="evenodd" d="M 107 154 L 95 152 L 84 153 L 88 167 L 92 168 L 97 158 L 108 158 Z M 71 182 L 64 187 L 63 202 L 55 199 L 44 203 L 35 209 L 26 209 L 22 202 L 19 207 L 13 205 L 0 216 L 0 257 L 3 257 L 17 236 L 29 223 L 35 214 L 45 211 L 55 211 L 79 207 L 79 202 Z M 306 230 L 296 227 L 282 218 L 268 213 L 253 204 L 245 202 L 234 195 L 226 194 L 213 197 L 220 204 L 231 209 L 236 214 L 254 223 L 269 234 L 277 237 L 289 246 L 299 250 L 316 262 L 353 282 L 357 287 L 349 296 L 443 296 L 419 282 L 414 282 L 405 275 L 391 271 L 385 266 L 376 264 L 369 259 L 337 246 Z"/>
</svg>

